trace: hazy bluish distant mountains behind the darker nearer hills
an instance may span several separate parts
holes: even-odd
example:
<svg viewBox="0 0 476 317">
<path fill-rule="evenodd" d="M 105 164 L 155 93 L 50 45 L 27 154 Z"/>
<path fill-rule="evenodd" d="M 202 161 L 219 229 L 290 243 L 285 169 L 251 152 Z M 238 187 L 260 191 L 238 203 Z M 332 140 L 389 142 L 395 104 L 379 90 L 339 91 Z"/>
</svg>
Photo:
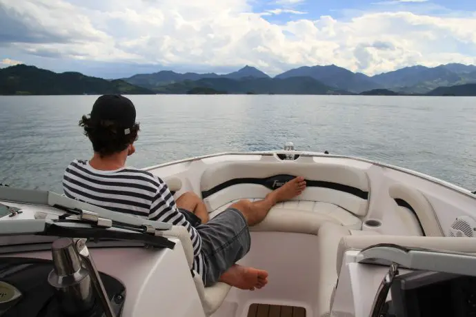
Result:
<svg viewBox="0 0 476 317">
<path fill-rule="evenodd" d="M 321 85 L 325 85 L 331 90 L 347 91 L 354 94 L 377 89 L 392 90 L 400 94 L 427 94 L 431 90 L 441 86 L 476 83 L 476 66 L 449 63 L 428 68 L 426 66 L 416 65 L 392 72 L 367 76 L 359 72 L 351 72 L 337 65 L 317 65 L 295 68 L 271 78 L 268 74 L 261 72 L 261 70 L 247 65 L 237 72 L 222 75 L 192 72 L 180 74 L 170 70 L 164 70 L 152 74 L 137 74 L 122 80 L 159 93 L 168 92 L 169 88 L 175 91 L 175 93 L 179 93 L 177 83 L 184 83 L 186 81 L 201 81 L 207 79 L 207 85 L 210 87 L 210 85 L 212 86 L 210 82 L 211 79 L 215 79 L 215 81 L 213 81 L 214 84 L 223 83 L 225 85 L 226 79 L 255 81 L 256 79 L 302 79 L 303 77 L 315 79 L 319 81 Z M 276 82 L 280 83 L 279 81 Z M 197 84 L 199 84 L 199 82 Z M 188 87 L 190 83 L 184 86 Z M 186 89 L 186 87 L 184 87 L 184 89 Z M 221 87 L 221 89 L 223 89 L 223 87 Z"/>
</svg>

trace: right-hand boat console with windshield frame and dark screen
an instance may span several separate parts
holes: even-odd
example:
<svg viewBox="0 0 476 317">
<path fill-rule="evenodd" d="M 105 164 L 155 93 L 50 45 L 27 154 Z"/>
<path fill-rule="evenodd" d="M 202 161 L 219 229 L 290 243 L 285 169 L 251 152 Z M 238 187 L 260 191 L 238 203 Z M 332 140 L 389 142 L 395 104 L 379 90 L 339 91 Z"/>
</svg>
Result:
<svg viewBox="0 0 476 317">
<path fill-rule="evenodd" d="M 364 265 L 389 266 L 370 317 L 476 315 L 476 256 L 381 244 L 357 258 Z"/>
</svg>

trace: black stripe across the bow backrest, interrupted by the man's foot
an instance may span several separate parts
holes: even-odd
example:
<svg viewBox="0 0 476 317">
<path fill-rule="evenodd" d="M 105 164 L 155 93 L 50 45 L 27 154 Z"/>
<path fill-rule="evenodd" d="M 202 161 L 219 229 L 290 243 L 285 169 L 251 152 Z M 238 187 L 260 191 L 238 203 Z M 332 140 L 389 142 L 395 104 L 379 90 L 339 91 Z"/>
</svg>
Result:
<svg viewBox="0 0 476 317">
<path fill-rule="evenodd" d="M 201 192 L 201 197 L 206 198 L 208 196 L 211 196 L 212 194 L 215 194 L 216 192 L 219 192 L 220 190 L 224 190 L 226 187 L 230 187 L 232 185 L 238 185 L 238 184 L 257 184 L 257 185 L 263 185 L 265 187 L 268 187 L 270 190 L 275 190 L 283 183 L 286 181 L 290 181 L 292 178 L 295 178 L 296 176 L 292 175 L 287 175 L 287 174 L 279 174 L 275 176 L 270 176 L 268 178 L 233 178 L 230 179 L 230 181 L 226 181 L 224 183 L 221 183 L 210 190 L 204 190 Z M 276 183 L 280 183 L 281 185 L 275 185 Z M 332 183 L 332 182 L 327 182 L 327 181 L 310 181 L 306 179 L 306 185 L 307 187 L 324 187 L 324 188 L 330 188 L 331 190 L 339 190 L 339 192 L 346 192 L 348 194 L 352 194 L 354 196 L 357 196 L 362 199 L 368 199 L 368 192 L 365 192 L 364 190 L 359 190 L 359 188 L 355 188 L 352 186 L 348 185 L 342 185 L 339 183 Z"/>
</svg>

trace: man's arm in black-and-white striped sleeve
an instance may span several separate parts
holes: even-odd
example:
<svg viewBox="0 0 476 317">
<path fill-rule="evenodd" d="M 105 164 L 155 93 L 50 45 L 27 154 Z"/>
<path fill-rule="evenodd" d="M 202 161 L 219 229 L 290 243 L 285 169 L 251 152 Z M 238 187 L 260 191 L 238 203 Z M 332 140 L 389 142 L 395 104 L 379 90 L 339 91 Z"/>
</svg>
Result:
<svg viewBox="0 0 476 317">
<path fill-rule="evenodd" d="M 184 214 L 179 212 L 167 184 L 161 180 L 159 180 L 159 187 L 157 187 L 157 192 L 155 192 L 155 196 L 152 198 L 149 219 L 186 227 L 192 241 L 193 255 L 198 256 L 200 254 L 201 238 L 197 230 L 190 225 Z"/>
</svg>

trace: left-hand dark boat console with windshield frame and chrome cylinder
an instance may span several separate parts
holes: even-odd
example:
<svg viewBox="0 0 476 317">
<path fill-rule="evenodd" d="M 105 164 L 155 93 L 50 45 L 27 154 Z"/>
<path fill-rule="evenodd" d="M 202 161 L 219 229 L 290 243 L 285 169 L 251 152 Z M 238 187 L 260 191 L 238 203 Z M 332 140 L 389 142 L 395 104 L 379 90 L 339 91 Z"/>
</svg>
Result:
<svg viewBox="0 0 476 317">
<path fill-rule="evenodd" d="M 59 216 L 39 212 L 35 219 L 0 221 L 1 317 L 119 317 L 126 285 L 98 272 L 88 241 L 95 245 L 119 241 L 119 247 L 175 245 L 161 236 L 160 231 L 170 227 L 165 223 L 79 209 L 77 202 L 48 192 L 30 199 L 54 205 Z M 47 247 L 51 260 L 11 255 Z"/>
</svg>

